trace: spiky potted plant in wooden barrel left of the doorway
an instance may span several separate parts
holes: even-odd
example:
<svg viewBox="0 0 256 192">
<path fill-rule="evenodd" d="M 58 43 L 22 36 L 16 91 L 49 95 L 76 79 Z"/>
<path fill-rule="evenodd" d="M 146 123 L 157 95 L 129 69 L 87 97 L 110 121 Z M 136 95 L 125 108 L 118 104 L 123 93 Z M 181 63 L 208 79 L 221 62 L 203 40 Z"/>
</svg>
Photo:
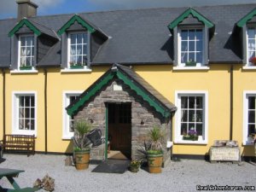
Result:
<svg viewBox="0 0 256 192">
<path fill-rule="evenodd" d="M 74 137 L 75 144 L 75 165 L 77 170 L 87 169 L 90 160 L 90 141 L 86 134 L 90 132 L 91 125 L 85 120 L 79 120 L 74 123 Z"/>
</svg>

